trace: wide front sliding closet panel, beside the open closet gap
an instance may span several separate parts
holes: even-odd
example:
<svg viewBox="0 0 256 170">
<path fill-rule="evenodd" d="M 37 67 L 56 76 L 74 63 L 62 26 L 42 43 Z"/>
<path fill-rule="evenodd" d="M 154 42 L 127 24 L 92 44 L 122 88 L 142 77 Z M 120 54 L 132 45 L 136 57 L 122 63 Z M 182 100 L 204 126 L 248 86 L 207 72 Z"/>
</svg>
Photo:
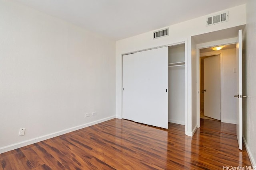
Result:
<svg viewBox="0 0 256 170">
<path fill-rule="evenodd" d="M 135 53 L 134 121 L 168 129 L 168 47 Z"/>
</svg>

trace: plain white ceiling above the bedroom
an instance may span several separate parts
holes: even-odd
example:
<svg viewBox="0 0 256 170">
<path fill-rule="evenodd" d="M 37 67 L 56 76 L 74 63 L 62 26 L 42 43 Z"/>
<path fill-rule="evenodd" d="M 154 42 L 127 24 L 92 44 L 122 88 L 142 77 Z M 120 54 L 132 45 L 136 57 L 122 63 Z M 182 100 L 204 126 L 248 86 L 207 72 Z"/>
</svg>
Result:
<svg viewBox="0 0 256 170">
<path fill-rule="evenodd" d="M 246 0 L 13 0 L 113 40 L 198 18 Z"/>
</svg>

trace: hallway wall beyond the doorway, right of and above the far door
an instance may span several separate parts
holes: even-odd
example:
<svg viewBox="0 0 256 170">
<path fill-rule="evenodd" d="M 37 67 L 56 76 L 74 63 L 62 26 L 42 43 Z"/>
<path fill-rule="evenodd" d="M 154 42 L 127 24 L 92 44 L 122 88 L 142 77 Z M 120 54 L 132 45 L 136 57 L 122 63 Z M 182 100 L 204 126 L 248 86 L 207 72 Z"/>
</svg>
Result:
<svg viewBox="0 0 256 170">
<path fill-rule="evenodd" d="M 223 73 L 223 108 L 221 112 L 221 121 L 225 123 L 236 124 L 236 49 L 227 49 L 200 53 L 200 56 L 217 55 L 222 56 L 222 73 Z"/>
</svg>

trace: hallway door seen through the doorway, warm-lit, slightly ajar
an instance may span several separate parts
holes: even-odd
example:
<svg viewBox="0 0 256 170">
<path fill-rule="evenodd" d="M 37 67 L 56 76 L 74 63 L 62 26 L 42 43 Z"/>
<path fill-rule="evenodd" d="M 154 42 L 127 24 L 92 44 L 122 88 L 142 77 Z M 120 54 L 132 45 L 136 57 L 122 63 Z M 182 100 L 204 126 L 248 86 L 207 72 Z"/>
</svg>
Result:
<svg viewBox="0 0 256 170">
<path fill-rule="evenodd" d="M 204 59 L 204 115 L 220 120 L 220 55 Z"/>
</svg>

